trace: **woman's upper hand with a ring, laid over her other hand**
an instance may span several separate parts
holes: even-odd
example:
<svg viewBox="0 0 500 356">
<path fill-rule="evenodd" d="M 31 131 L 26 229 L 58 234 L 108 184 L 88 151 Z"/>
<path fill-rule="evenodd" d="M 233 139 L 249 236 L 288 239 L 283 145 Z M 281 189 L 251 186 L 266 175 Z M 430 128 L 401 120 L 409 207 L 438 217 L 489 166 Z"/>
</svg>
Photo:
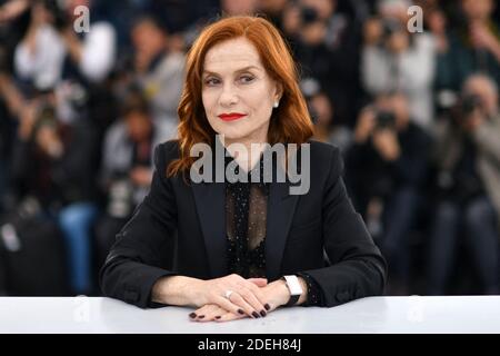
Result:
<svg viewBox="0 0 500 356">
<path fill-rule="evenodd" d="M 264 316 L 270 308 L 260 287 L 267 285 L 264 278 L 249 278 L 232 274 L 226 277 L 197 280 L 192 285 L 193 303 L 197 307 L 218 305 L 236 315 L 252 318 Z"/>
</svg>

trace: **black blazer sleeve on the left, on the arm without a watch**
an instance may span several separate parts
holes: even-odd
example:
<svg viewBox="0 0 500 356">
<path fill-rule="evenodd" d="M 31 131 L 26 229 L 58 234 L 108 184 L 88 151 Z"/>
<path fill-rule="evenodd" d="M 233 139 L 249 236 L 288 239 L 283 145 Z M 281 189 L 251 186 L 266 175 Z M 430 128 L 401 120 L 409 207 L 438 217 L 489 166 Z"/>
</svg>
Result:
<svg viewBox="0 0 500 356">
<path fill-rule="evenodd" d="M 150 301 L 151 288 L 159 278 L 174 275 L 162 267 L 173 258 L 177 229 L 176 197 L 164 174 L 167 151 L 166 145 L 156 148 L 150 191 L 117 235 L 99 276 L 104 296 L 141 308 L 159 306 Z"/>
</svg>

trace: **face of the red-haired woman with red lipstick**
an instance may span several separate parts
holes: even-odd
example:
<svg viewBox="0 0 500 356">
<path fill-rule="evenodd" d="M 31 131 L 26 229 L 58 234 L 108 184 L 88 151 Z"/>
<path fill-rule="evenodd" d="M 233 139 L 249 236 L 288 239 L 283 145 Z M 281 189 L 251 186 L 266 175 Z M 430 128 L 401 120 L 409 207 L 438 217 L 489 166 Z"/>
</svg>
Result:
<svg viewBox="0 0 500 356">
<path fill-rule="evenodd" d="M 277 83 L 244 38 L 212 47 L 204 58 L 202 100 L 210 126 L 227 142 L 266 142 Z"/>
</svg>

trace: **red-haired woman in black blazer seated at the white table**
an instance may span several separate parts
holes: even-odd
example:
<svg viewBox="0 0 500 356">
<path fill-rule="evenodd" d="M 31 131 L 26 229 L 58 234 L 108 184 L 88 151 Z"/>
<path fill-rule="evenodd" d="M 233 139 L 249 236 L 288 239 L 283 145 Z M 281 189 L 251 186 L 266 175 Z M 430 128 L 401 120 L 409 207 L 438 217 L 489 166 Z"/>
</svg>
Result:
<svg viewBox="0 0 500 356">
<path fill-rule="evenodd" d="M 296 67 L 270 22 L 233 17 L 206 28 L 188 55 L 178 113 L 179 140 L 157 148 L 151 190 L 101 270 L 104 295 L 192 306 L 193 320 L 224 322 L 382 293 L 384 259 L 346 195 L 339 150 L 308 141 Z M 258 171 L 259 181 L 194 182 L 200 144 L 226 149 L 226 166 L 216 157 L 203 174 L 236 166 L 238 177 Z M 269 145 L 249 154 L 256 144 Z M 304 144 L 287 151 L 311 179 L 302 195 L 291 194 L 291 179 L 276 179 L 291 160 L 272 159 L 272 181 L 263 178 L 263 157 L 279 144 Z"/>
</svg>

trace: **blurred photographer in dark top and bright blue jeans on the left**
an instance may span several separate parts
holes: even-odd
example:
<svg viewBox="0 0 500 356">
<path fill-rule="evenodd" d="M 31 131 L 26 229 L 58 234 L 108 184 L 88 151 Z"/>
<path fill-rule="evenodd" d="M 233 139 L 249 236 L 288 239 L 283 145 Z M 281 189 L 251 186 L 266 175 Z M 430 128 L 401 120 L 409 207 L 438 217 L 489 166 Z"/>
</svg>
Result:
<svg viewBox="0 0 500 356">
<path fill-rule="evenodd" d="M 20 118 L 12 154 L 12 187 L 22 201 L 34 197 L 64 237 L 72 294 L 91 293 L 90 226 L 97 216 L 97 135 L 88 120 L 57 117 L 56 96 L 39 95 Z"/>
</svg>

